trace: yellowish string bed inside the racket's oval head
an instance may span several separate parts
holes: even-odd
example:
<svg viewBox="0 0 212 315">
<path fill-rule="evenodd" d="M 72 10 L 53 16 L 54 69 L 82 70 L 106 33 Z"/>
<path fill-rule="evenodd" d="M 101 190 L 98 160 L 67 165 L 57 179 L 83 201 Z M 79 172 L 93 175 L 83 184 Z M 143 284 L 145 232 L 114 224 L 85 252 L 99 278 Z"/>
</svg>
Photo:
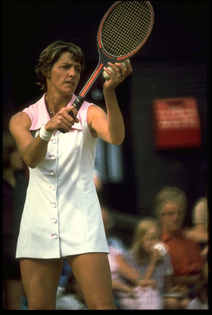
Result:
<svg viewBox="0 0 212 315">
<path fill-rule="evenodd" d="M 123 56 L 135 50 L 147 37 L 152 13 L 146 1 L 122 1 L 104 21 L 101 40 L 105 51 Z"/>
</svg>

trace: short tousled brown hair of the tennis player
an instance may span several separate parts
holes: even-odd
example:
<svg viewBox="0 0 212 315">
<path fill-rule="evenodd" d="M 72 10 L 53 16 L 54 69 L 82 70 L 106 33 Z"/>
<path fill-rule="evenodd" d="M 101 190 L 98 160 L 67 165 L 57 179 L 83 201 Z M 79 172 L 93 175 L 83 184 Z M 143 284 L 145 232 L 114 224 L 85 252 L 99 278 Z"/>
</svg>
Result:
<svg viewBox="0 0 212 315">
<path fill-rule="evenodd" d="M 42 91 L 47 92 L 46 73 L 51 69 L 53 64 L 59 59 L 62 53 L 70 52 L 73 59 L 81 64 L 82 70 L 85 70 L 85 56 L 81 48 L 74 43 L 65 43 L 62 40 L 54 41 L 48 45 L 40 54 L 38 64 L 35 66 L 35 73 L 38 79 L 36 84 Z"/>
</svg>

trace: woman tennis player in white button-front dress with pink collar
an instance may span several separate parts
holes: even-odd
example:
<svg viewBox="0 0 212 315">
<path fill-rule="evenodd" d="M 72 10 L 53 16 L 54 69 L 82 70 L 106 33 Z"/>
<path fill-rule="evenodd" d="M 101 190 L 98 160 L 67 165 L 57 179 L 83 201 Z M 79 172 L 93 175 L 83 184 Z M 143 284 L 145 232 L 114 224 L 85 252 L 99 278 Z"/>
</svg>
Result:
<svg viewBox="0 0 212 315">
<path fill-rule="evenodd" d="M 109 63 L 113 74 L 104 67 L 110 77 L 103 85 L 107 114 L 86 101 L 77 112 L 71 104 L 84 61 L 75 44 L 50 44 L 36 66 L 45 94 L 10 120 L 10 132 L 30 169 L 16 252 L 30 310 L 55 309 L 63 257 L 87 307 L 115 309 L 93 166 L 98 137 L 116 145 L 124 139 L 114 89 L 132 68 L 129 62 L 127 68 Z"/>
</svg>

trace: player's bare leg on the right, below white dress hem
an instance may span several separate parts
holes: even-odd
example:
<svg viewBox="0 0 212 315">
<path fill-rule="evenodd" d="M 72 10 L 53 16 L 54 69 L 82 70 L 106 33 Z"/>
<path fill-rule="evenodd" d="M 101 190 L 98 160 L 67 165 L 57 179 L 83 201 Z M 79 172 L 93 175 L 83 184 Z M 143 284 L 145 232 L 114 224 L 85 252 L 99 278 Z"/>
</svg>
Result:
<svg viewBox="0 0 212 315">
<path fill-rule="evenodd" d="M 111 273 L 106 253 L 67 256 L 88 309 L 115 310 Z"/>
</svg>

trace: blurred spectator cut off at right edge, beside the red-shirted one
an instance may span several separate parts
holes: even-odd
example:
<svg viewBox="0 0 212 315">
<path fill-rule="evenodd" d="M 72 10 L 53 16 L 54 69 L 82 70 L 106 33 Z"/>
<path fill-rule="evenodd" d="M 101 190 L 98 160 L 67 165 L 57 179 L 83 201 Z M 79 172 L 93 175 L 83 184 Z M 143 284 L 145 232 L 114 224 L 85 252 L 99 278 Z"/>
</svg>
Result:
<svg viewBox="0 0 212 315">
<path fill-rule="evenodd" d="M 192 209 L 192 224 L 191 228 L 186 230 L 186 237 L 199 243 L 202 248 L 201 256 L 207 258 L 208 255 L 208 201 L 207 197 L 201 197 L 194 204 Z"/>
</svg>

